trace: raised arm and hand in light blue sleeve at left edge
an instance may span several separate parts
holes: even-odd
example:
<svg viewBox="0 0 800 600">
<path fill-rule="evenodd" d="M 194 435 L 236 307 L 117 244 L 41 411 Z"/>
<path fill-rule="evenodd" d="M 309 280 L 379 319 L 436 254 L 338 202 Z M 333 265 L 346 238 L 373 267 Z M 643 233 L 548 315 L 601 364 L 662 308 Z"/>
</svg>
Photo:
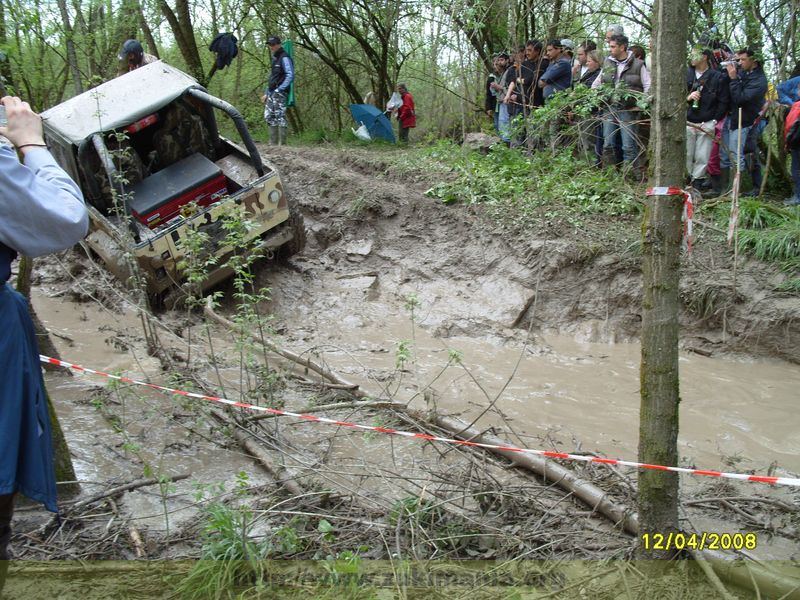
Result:
<svg viewBox="0 0 800 600">
<path fill-rule="evenodd" d="M 89 217 L 78 185 L 44 144 L 42 122 L 27 102 L 2 99 L 8 126 L 0 127 L 23 155 L 0 147 L 0 241 L 26 256 L 69 248 L 86 235 Z"/>
</svg>

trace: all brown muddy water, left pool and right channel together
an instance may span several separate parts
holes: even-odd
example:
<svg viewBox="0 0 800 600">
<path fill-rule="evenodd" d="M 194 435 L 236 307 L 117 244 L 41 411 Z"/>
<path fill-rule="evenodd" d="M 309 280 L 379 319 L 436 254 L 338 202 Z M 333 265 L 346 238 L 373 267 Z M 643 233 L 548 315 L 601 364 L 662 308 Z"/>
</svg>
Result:
<svg viewBox="0 0 800 600">
<path fill-rule="evenodd" d="M 357 305 L 341 301 L 359 285 L 347 279 L 328 282 L 324 291 L 313 297 L 291 302 L 286 297 L 282 305 L 276 302 L 278 318 L 292 323 L 295 341 L 287 345 L 295 351 L 313 347 L 328 364 L 363 382 L 367 389 L 411 399 L 419 407 L 425 406 L 425 401 L 417 390 L 436 379 L 433 400 L 441 410 L 468 421 L 485 413 L 477 421 L 478 427 L 513 431 L 516 437 L 510 439 L 527 447 L 636 459 L 637 344 L 583 343 L 558 335 L 526 341 L 520 332 L 510 337 L 440 339 L 425 328 L 426 321 L 439 318 L 435 305 L 420 307 L 412 328 L 400 300 L 385 294 L 381 297 L 356 290 L 364 292 L 366 301 Z M 50 329 L 62 336 L 57 337 L 57 344 L 65 360 L 99 370 L 119 369 L 133 376 L 158 376 L 155 361 L 127 343 L 126 328 L 131 336 L 141 330 L 136 319 L 86 305 L 76 309 L 74 304 L 44 296 L 37 297 L 35 304 Z M 395 371 L 397 343 L 412 339 L 413 359 L 399 374 Z M 460 353 L 463 366 L 445 368 L 450 349 Z M 679 451 L 683 466 L 764 473 L 775 463 L 778 474 L 800 472 L 795 416 L 800 369 L 780 361 L 687 353 L 682 353 L 680 360 Z M 85 390 L 76 388 L 74 382 L 59 385 L 66 390 L 68 401 L 60 410 L 65 412 L 67 431 L 79 455 L 81 475 L 108 478 L 118 471 L 116 461 L 112 458 L 103 465 L 90 456 L 97 444 L 96 411 L 76 408 L 69 401 Z M 486 411 L 495 398 L 493 408 Z M 164 405 L 163 398 L 154 397 L 151 402 L 153 405 L 143 410 L 155 411 L 154 406 Z M 166 431 L 164 435 L 180 439 L 184 434 Z M 203 477 L 206 481 L 230 479 L 231 473 L 249 468 L 245 457 L 229 452 L 220 455 L 211 447 L 183 452 L 172 463 L 175 472 L 208 470 Z M 156 500 L 151 498 L 157 505 Z"/>
</svg>

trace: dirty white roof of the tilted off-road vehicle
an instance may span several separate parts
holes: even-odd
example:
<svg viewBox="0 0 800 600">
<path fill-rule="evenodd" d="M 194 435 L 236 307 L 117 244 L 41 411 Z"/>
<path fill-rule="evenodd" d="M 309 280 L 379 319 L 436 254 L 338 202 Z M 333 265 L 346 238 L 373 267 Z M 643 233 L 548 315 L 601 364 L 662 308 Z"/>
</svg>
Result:
<svg viewBox="0 0 800 600">
<path fill-rule="evenodd" d="M 144 65 L 42 113 L 45 128 L 73 144 L 163 108 L 197 80 L 161 61 Z"/>
</svg>

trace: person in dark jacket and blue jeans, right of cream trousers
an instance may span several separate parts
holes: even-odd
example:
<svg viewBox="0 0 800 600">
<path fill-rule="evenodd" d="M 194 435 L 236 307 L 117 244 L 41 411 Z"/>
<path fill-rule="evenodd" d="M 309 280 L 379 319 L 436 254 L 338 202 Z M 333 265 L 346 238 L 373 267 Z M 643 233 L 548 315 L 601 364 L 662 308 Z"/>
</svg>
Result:
<svg viewBox="0 0 800 600">
<path fill-rule="evenodd" d="M 739 50 L 736 53 L 736 63 L 738 68 L 733 62 L 725 65 L 731 104 L 728 119 L 722 130 L 719 153 L 720 185 L 723 193 L 728 190 L 731 166 L 738 164 L 742 171 L 746 168 L 744 143 L 747 141 L 750 127 L 753 126 L 764 105 L 767 94 L 767 76 L 764 75 L 764 69 L 761 68 L 755 51 L 751 48 Z"/>
</svg>

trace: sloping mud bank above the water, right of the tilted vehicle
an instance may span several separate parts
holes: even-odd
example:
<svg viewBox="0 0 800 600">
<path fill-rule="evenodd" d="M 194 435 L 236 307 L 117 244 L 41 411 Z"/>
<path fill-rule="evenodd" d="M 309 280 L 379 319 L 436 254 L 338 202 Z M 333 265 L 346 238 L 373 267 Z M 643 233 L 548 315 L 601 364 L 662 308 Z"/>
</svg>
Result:
<svg viewBox="0 0 800 600">
<path fill-rule="evenodd" d="M 309 245 L 295 260 L 306 275 L 301 288 L 318 285 L 325 273 L 372 278 L 372 293 L 414 293 L 435 307 L 425 326 L 440 337 L 513 335 L 531 325 L 586 341 L 638 335 L 635 252 L 610 254 L 547 231 L 510 238 L 480 207 L 442 205 L 424 195 L 433 182 L 392 173 L 364 151 L 262 152 L 306 218 Z M 782 277 L 774 269 L 740 259 L 734 294 L 728 250 L 702 233 L 683 268 L 685 347 L 799 360 L 800 301 L 772 291 Z"/>
</svg>

